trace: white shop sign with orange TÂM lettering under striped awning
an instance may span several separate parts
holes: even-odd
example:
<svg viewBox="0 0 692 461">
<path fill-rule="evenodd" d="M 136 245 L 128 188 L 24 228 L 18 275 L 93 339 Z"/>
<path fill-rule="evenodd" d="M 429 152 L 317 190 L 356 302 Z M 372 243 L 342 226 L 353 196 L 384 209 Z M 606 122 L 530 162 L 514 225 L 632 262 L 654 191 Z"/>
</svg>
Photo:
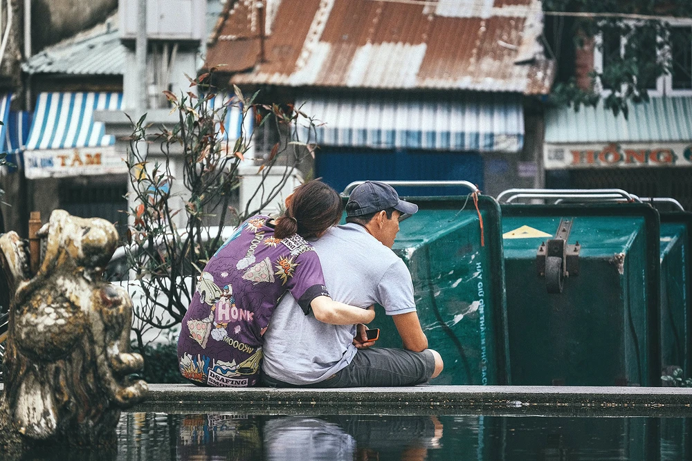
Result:
<svg viewBox="0 0 692 461">
<path fill-rule="evenodd" d="M 26 178 L 68 178 L 127 173 L 115 147 L 24 151 Z"/>
</svg>

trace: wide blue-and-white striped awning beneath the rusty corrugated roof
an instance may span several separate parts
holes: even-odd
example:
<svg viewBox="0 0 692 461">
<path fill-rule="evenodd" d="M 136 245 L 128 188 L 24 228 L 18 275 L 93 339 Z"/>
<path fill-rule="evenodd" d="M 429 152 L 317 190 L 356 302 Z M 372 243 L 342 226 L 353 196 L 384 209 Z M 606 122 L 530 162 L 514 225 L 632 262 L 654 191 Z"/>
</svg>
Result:
<svg viewBox="0 0 692 461">
<path fill-rule="evenodd" d="M 311 95 L 295 107 L 318 125 L 309 133 L 302 123 L 300 141 L 320 145 L 518 152 L 524 144 L 521 95 Z"/>
</svg>

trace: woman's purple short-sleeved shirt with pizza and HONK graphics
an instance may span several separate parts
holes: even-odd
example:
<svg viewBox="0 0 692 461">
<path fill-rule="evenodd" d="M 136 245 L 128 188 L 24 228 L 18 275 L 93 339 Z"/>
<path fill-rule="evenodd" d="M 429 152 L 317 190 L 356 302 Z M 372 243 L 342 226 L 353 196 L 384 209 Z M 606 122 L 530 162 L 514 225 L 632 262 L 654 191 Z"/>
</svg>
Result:
<svg viewBox="0 0 692 461">
<path fill-rule="evenodd" d="M 185 378 L 208 386 L 253 386 L 262 335 L 286 290 L 306 315 L 313 299 L 329 296 L 312 245 L 298 234 L 275 238 L 268 220 L 246 220 L 204 267 L 178 339 Z"/>
</svg>

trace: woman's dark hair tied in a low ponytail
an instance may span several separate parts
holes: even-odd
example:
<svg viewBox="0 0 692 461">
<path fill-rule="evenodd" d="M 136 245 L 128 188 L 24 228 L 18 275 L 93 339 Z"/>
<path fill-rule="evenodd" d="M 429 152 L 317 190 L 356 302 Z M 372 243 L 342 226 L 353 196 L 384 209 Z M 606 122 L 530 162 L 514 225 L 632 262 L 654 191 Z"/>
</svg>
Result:
<svg viewBox="0 0 692 461">
<path fill-rule="evenodd" d="M 315 238 L 336 225 L 343 213 L 339 194 L 320 180 L 296 187 L 288 202 L 286 211 L 276 220 L 274 235 L 277 238 L 292 234 Z"/>
</svg>

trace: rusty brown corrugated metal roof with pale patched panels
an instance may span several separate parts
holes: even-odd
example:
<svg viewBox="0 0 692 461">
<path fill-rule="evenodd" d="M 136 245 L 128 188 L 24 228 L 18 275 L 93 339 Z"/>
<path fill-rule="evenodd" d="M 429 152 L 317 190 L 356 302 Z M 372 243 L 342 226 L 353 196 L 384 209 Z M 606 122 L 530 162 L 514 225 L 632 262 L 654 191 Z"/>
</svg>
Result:
<svg viewBox="0 0 692 461">
<path fill-rule="evenodd" d="M 257 2 L 221 14 L 207 66 L 237 84 L 548 93 L 554 65 L 538 37 L 538 0 L 273 0 L 265 62 Z"/>
</svg>

